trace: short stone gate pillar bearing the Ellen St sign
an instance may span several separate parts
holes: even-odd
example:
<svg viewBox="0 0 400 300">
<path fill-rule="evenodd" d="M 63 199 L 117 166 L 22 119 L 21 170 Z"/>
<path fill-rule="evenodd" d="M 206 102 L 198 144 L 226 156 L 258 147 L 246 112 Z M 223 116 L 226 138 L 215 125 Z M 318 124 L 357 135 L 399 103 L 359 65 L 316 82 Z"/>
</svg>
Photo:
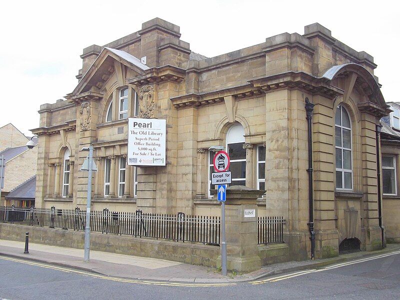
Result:
<svg viewBox="0 0 400 300">
<path fill-rule="evenodd" d="M 257 198 L 264 192 L 242 185 L 226 188 L 225 238 L 229 270 L 251 272 L 261 267 L 257 254 Z"/>
</svg>

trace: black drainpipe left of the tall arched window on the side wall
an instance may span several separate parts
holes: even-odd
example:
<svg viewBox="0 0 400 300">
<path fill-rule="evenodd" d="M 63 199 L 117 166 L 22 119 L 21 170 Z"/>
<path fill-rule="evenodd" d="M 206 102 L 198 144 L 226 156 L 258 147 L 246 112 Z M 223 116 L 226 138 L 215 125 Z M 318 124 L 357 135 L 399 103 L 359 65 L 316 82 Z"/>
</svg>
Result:
<svg viewBox="0 0 400 300">
<path fill-rule="evenodd" d="M 312 110 L 314 110 L 314 105 L 308 98 L 305 98 L 305 112 L 308 124 L 308 208 L 309 208 L 309 220 L 308 228 L 311 239 L 311 259 L 315 258 L 315 232 L 314 232 L 314 208 L 313 208 L 313 198 L 312 198 Z"/>
</svg>

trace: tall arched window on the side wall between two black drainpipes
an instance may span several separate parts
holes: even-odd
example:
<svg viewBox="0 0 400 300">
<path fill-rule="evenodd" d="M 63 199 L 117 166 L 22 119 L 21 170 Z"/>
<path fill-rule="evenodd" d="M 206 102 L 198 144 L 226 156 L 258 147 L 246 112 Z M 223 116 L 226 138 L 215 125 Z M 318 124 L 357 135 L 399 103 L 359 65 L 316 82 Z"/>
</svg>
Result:
<svg viewBox="0 0 400 300">
<path fill-rule="evenodd" d="M 334 124 L 336 189 L 352 190 L 351 121 L 342 105 L 337 106 Z"/>
</svg>

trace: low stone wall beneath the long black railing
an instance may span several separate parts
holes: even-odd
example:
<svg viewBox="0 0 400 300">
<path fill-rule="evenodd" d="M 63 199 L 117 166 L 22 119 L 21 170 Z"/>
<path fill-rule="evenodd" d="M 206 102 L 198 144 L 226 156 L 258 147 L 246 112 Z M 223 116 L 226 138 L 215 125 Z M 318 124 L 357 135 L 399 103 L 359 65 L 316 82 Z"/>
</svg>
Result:
<svg viewBox="0 0 400 300">
<path fill-rule="evenodd" d="M 81 249 L 84 245 L 84 231 L 0 223 L 2 239 L 24 241 L 25 232 L 29 232 L 29 241 L 34 243 Z M 216 259 L 220 252 L 218 246 L 101 233 L 90 233 L 90 249 L 210 267 L 216 267 Z"/>
</svg>

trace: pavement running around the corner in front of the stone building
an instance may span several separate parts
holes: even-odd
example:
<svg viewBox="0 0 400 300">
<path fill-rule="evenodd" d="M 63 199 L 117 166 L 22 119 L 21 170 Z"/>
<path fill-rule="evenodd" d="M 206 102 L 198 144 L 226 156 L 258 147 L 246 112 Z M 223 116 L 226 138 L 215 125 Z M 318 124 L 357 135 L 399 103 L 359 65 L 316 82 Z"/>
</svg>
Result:
<svg viewBox="0 0 400 300">
<path fill-rule="evenodd" d="M 83 261 L 83 249 L 67 248 L 46 244 L 29 243 L 29 253 L 23 254 L 24 242 L 0 239 L 0 255 L 32 260 L 51 265 L 93 272 L 105 276 L 139 280 L 163 280 L 173 282 L 240 282 L 263 277 L 356 260 L 363 257 L 390 253 L 400 249 L 400 244 L 387 244 L 377 251 L 358 251 L 341 254 L 327 259 L 289 261 L 261 267 L 259 270 L 223 276 L 220 271 L 206 266 L 191 265 L 164 259 L 90 251 L 90 261 Z"/>
</svg>

